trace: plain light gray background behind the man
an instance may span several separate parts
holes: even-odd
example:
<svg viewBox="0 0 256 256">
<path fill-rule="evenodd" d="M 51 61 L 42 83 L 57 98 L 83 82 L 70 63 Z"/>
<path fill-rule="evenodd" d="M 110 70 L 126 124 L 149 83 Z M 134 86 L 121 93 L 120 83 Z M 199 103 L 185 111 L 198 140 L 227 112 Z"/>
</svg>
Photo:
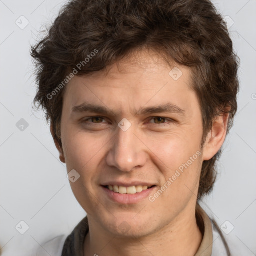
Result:
<svg viewBox="0 0 256 256">
<path fill-rule="evenodd" d="M 30 44 L 64 3 L 0 0 L 0 245 L 4 256 L 24 255 L 54 236 L 70 233 L 85 216 L 41 111 L 31 109 L 35 86 Z M 214 3 L 234 21 L 229 31 L 241 59 L 241 88 L 214 191 L 201 205 L 219 226 L 226 220 L 227 229 L 234 226 L 225 237 L 244 251 L 242 256 L 256 255 L 256 1 Z M 21 15 L 29 21 L 24 29 L 15 24 L 16 20 L 20 26 L 25 24 Z M 29 124 L 23 131 L 16 127 L 21 118 Z M 21 220 L 29 226 L 23 235 L 15 229 Z"/>
</svg>

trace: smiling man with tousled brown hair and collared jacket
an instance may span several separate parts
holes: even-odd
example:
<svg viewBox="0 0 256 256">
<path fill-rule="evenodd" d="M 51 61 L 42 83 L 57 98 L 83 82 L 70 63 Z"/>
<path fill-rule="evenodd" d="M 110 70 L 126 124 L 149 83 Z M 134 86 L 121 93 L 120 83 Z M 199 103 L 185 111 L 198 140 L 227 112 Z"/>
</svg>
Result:
<svg viewBox="0 0 256 256">
<path fill-rule="evenodd" d="M 212 3 L 70 1 L 31 54 L 35 103 L 87 213 L 42 251 L 230 255 L 198 204 L 237 109 L 238 60 Z"/>
</svg>

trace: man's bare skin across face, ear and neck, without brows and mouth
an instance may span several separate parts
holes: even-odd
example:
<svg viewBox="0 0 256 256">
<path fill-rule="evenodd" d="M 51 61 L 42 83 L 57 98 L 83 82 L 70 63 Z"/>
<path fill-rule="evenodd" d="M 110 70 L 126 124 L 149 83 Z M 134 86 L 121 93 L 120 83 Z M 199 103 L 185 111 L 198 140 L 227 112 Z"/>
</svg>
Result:
<svg viewBox="0 0 256 256">
<path fill-rule="evenodd" d="M 175 66 L 183 73 L 176 81 L 169 75 Z M 201 166 L 220 149 L 228 114 L 215 119 L 201 148 L 202 117 L 190 75 L 188 68 L 170 67 L 158 54 L 143 50 L 107 71 L 75 76 L 66 85 L 63 147 L 55 144 L 67 171 L 80 174 L 70 185 L 88 216 L 85 255 L 190 256 L 198 250 L 202 234 L 195 206 Z M 83 102 L 106 106 L 111 114 L 72 112 Z M 183 112 L 135 115 L 141 108 L 165 103 Z M 91 116 L 102 119 L 85 120 Z M 117 126 L 123 118 L 131 123 L 127 131 Z M 100 186 L 110 180 L 139 180 L 156 185 L 152 195 L 198 151 L 200 156 L 154 202 L 116 203 Z M 123 221 L 129 226 L 126 232 L 119 228 Z"/>
</svg>

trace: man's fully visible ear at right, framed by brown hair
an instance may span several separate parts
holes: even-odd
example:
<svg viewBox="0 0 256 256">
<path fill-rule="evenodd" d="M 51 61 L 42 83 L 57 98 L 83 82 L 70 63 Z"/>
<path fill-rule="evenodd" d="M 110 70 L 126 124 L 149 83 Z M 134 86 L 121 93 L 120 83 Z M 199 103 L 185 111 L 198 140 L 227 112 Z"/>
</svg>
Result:
<svg viewBox="0 0 256 256">
<path fill-rule="evenodd" d="M 224 143 L 228 117 L 229 113 L 223 113 L 215 118 L 203 146 L 203 160 L 211 159 Z"/>
</svg>

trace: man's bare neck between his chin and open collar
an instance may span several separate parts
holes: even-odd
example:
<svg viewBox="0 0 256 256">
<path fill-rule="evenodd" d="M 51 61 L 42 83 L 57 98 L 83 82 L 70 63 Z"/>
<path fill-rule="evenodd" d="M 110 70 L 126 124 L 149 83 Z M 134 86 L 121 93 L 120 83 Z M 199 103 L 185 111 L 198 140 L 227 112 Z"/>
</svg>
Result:
<svg viewBox="0 0 256 256">
<path fill-rule="evenodd" d="M 89 232 L 84 240 L 84 255 L 194 256 L 202 241 L 202 234 L 196 223 L 195 209 L 189 209 L 190 214 L 184 211 L 164 228 L 139 238 L 117 237 L 107 233 L 88 216 Z"/>
</svg>

